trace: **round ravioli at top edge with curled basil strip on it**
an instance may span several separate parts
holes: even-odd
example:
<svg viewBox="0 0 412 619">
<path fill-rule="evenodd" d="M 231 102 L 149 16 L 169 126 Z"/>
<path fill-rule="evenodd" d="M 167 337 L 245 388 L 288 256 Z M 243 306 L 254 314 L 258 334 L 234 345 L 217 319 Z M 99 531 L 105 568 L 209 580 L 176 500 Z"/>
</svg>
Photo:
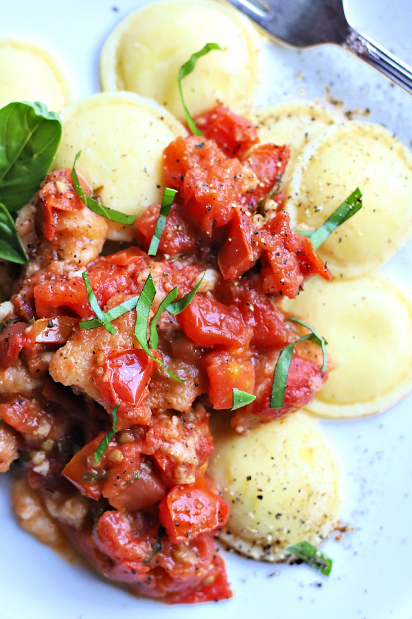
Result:
<svg viewBox="0 0 412 619">
<path fill-rule="evenodd" d="M 219 102 L 248 111 L 258 90 L 260 36 L 242 14 L 210 0 L 155 2 L 128 15 L 104 45 L 102 87 L 151 97 L 183 121 L 179 67 L 211 42 L 222 52 L 199 58 L 185 77 L 185 104 L 192 116 Z"/>
</svg>

